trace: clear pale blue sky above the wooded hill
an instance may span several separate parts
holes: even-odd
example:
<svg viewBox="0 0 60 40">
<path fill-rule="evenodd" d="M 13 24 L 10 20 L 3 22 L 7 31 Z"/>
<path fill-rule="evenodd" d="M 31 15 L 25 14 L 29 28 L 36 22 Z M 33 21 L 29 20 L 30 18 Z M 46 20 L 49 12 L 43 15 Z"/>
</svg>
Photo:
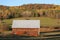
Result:
<svg viewBox="0 0 60 40">
<path fill-rule="evenodd" d="M 0 5 L 19 6 L 23 4 L 55 4 L 60 5 L 60 0 L 0 0 Z"/>
</svg>

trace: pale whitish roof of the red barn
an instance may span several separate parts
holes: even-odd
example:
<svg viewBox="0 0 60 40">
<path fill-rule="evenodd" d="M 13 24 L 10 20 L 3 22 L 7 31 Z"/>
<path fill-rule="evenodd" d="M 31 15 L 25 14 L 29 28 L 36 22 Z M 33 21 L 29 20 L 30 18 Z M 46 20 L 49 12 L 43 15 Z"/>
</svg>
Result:
<svg viewBox="0 0 60 40">
<path fill-rule="evenodd" d="M 40 20 L 13 20 L 12 28 L 40 28 Z"/>
</svg>

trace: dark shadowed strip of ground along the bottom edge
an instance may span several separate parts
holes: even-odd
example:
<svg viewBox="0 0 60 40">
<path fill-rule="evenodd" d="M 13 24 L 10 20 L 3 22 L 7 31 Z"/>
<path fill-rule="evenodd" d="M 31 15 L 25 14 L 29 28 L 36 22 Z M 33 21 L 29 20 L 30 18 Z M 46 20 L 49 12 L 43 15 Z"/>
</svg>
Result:
<svg viewBox="0 0 60 40">
<path fill-rule="evenodd" d="M 37 38 L 29 36 L 19 36 L 19 35 L 7 35 L 0 36 L 0 40 L 60 40 L 60 37 L 56 38 Z"/>
</svg>

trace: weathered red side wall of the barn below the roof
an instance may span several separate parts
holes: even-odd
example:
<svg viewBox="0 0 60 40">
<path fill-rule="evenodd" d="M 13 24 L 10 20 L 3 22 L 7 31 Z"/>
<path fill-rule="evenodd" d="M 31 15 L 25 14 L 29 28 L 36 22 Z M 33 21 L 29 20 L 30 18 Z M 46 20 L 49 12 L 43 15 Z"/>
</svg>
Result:
<svg viewBox="0 0 60 40">
<path fill-rule="evenodd" d="M 12 33 L 17 35 L 38 36 L 38 28 L 13 28 Z"/>
</svg>

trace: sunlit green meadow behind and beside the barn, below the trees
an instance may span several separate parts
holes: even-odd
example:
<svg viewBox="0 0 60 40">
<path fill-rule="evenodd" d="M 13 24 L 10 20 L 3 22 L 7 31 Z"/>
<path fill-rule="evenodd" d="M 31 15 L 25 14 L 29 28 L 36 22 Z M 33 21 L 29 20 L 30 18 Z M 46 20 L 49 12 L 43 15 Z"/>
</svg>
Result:
<svg viewBox="0 0 60 40">
<path fill-rule="evenodd" d="M 58 26 L 60 25 L 60 23 L 58 24 L 58 19 L 54 19 L 54 18 L 49 18 L 49 17 L 24 17 L 24 18 L 13 18 L 13 19 L 5 19 L 3 20 L 4 22 L 6 22 L 7 24 L 12 24 L 13 20 L 26 20 L 26 19 L 30 19 L 30 20 L 40 20 L 41 26 Z M 59 19 L 60 21 L 60 19 Z"/>
</svg>

